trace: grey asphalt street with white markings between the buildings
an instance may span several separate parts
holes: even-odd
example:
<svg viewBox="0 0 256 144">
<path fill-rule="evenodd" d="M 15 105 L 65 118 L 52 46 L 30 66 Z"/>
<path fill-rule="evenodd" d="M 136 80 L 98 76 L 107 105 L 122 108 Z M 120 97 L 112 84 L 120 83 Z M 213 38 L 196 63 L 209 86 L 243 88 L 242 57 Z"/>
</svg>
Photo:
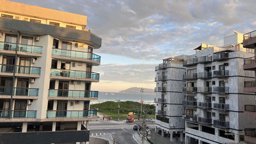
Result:
<svg viewBox="0 0 256 144">
<path fill-rule="evenodd" d="M 133 135 L 136 133 L 133 130 L 134 123 L 126 123 L 125 121 L 117 122 L 117 121 L 97 121 L 89 123 L 89 130 L 91 136 L 101 137 L 103 139 L 107 139 L 117 144 L 138 144 L 138 142 L 134 139 Z M 150 128 L 154 127 L 155 123 L 148 122 L 148 126 Z"/>
</svg>

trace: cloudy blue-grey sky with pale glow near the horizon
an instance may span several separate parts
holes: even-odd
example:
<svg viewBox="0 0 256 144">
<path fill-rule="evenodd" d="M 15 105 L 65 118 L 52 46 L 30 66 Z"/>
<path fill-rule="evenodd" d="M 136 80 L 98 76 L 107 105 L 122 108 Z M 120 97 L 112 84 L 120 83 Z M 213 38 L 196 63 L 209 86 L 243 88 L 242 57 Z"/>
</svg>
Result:
<svg viewBox="0 0 256 144">
<path fill-rule="evenodd" d="M 92 90 L 155 87 L 163 58 L 192 54 L 200 43 L 223 45 L 233 30 L 256 30 L 255 0 L 13 0 L 88 16 L 86 29 L 102 38 L 100 82 Z"/>
</svg>

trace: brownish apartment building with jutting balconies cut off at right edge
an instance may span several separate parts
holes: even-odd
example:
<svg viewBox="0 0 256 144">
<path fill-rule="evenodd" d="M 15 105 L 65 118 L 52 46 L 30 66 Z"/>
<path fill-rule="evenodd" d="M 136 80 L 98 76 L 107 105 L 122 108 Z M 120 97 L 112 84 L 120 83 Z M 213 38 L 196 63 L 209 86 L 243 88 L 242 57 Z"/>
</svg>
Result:
<svg viewBox="0 0 256 144">
<path fill-rule="evenodd" d="M 256 31 L 249 32 L 243 35 L 243 47 L 251 49 L 252 52 L 255 52 L 256 48 Z M 244 59 L 243 70 L 252 71 L 255 76 L 256 71 L 256 60 L 255 55 Z M 252 81 L 246 81 L 243 87 L 244 92 L 256 93 L 256 83 L 255 78 Z M 245 104 L 245 116 L 248 119 L 256 119 L 256 96 L 254 103 Z M 245 140 L 246 142 L 256 143 L 256 128 L 255 126 L 245 128 Z"/>
</svg>

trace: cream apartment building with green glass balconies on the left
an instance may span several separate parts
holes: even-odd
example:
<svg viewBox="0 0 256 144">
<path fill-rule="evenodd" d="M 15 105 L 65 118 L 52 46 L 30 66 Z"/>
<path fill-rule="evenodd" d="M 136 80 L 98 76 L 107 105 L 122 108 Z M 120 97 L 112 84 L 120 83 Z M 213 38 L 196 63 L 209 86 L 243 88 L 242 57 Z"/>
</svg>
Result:
<svg viewBox="0 0 256 144">
<path fill-rule="evenodd" d="M 87 16 L 0 3 L 0 143 L 88 142 L 101 38 Z"/>
</svg>

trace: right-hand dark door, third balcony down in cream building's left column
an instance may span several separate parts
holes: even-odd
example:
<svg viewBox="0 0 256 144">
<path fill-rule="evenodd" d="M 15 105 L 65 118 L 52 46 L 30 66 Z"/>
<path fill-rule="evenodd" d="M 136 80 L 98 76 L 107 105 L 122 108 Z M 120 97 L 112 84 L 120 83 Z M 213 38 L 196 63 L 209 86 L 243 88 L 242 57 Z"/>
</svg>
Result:
<svg viewBox="0 0 256 144">
<path fill-rule="evenodd" d="M 18 78 L 16 96 L 28 96 L 29 79 Z"/>
</svg>

